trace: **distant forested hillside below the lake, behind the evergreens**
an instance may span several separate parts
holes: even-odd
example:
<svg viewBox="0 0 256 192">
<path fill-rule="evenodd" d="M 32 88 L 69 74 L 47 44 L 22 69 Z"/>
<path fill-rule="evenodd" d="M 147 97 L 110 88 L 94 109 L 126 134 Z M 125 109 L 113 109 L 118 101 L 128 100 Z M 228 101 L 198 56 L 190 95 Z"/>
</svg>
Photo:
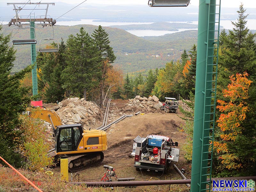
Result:
<svg viewBox="0 0 256 192">
<path fill-rule="evenodd" d="M 190 25 L 190 24 L 188 24 Z M 155 25 L 159 27 L 159 24 Z M 162 24 L 161 24 L 162 26 Z M 92 34 L 92 31 L 98 26 L 94 25 L 76 25 L 76 26 L 54 26 L 54 38 L 60 43 L 61 38 L 66 42 L 69 35 L 76 35 L 79 29 L 84 29 Z M 4 34 L 11 32 L 13 26 L 3 25 Z M 119 28 L 103 27 L 109 34 L 110 46 L 116 55 L 113 65 L 120 66 L 124 73 L 136 71 L 148 71 L 151 68 L 161 68 L 166 62 L 180 58 L 181 51 L 188 50 L 193 44 L 196 44 L 197 31 L 183 31 L 174 34 L 154 37 L 137 37 Z M 24 33 L 15 33 L 14 37 Z M 29 35 L 29 34 L 28 34 Z M 18 37 L 17 37 L 18 36 Z M 42 28 L 36 26 L 37 51 L 39 50 L 40 39 L 52 36 L 52 28 Z M 11 44 L 11 43 L 10 43 Z M 30 45 L 15 45 L 17 49 L 17 60 L 14 62 L 15 71 L 24 68 L 31 63 Z M 158 55 L 159 57 L 156 57 Z"/>
</svg>

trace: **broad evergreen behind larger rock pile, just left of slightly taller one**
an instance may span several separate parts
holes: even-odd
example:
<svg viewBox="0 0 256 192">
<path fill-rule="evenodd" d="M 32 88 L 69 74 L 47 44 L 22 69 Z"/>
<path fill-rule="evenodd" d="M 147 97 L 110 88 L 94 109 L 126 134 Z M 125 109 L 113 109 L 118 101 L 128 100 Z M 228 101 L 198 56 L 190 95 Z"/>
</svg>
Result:
<svg viewBox="0 0 256 192">
<path fill-rule="evenodd" d="M 61 78 L 62 87 L 70 97 L 87 99 L 90 91 L 99 84 L 101 55 L 92 38 L 80 28 L 76 36 L 69 35 L 67 40 L 66 62 Z M 91 97 L 92 98 L 92 97 Z"/>
</svg>

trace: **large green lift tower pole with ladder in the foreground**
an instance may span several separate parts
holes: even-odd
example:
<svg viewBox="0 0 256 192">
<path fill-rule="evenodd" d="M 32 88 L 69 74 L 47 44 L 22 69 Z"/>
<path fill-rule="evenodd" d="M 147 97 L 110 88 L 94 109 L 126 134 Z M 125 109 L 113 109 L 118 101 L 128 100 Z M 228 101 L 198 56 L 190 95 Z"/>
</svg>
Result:
<svg viewBox="0 0 256 192">
<path fill-rule="evenodd" d="M 219 6 L 219 12 L 217 13 L 216 6 Z M 215 21 L 216 15 L 218 21 Z M 216 0 L 199 0 L 190 192 L 211 190 L 211 182 L 206 180 L 207 178 L 211 179 L 212 172 L 219 24 L 220 3 L 216 5 Z M 218 26 L 217 30 L 215 30 L 215 25 Z M 215 35 L 217 38 L 215 38 Z M 214 51 L 214 49 L 216 50 Z M 212 131 L 212 135 L 210 135 L 210 131 Z"/>
</svg>

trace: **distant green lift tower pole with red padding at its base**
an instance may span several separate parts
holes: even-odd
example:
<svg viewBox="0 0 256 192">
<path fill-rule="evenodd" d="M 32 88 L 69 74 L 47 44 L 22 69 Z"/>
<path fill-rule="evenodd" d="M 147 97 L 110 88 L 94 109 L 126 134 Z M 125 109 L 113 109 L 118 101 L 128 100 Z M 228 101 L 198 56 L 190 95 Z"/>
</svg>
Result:
<svg viewBox="0 0 256 192">
<path fill-rule="evenodd" d="M 35 22 L 30 22 L 30 38 L 35 39 Z M 37 67 L 36 67 L 36 44 L 31 44 L 31 65 L 35 65 L 32 69 L 32 89 L 33 96 L 37 95 Z"/>
</svg>

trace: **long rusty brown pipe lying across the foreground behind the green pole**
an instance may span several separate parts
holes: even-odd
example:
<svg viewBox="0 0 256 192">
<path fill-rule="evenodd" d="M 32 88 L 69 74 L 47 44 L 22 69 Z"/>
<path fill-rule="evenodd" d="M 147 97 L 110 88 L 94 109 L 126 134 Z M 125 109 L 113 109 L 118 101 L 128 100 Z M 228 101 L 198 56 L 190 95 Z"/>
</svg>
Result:
<svg viewBox="0 0 256 192">
<path fill-rule="evenodd" d="M 256 180 L 256 176 L 249 177 L 226 177 L 212 178 L 213 180 Z M 209 178 L 207 179 L 209 181 Z M 111 182 L 69 182 L 74 185 L 84 184 L 87 187 L 131 187 L 131 186 L 148 186 L 148 185 L 170 185 L 170 184 L 190 184 L 191 179 L 187 180 L 156 180 L 156 181 L 111 181 Z"/>
</svg>

